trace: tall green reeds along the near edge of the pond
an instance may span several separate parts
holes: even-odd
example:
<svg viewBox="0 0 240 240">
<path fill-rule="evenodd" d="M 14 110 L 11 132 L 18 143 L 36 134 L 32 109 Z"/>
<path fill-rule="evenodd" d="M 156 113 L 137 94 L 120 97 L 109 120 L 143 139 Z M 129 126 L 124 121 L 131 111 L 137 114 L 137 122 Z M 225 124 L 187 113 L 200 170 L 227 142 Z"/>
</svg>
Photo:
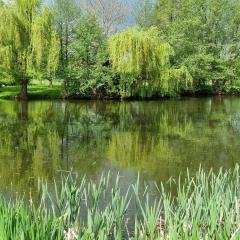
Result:
<svg viewBox="0 0 240 240">
<path fill-rule="evenodd" d="M 127 193 L 118 177 L 111 188 L 110 176 L 98 184 L 68 176 L 54 194 L 40 183 L 38 205 L 1 197 L 0 239 L 240 239 L 239 176 L 238 166 L 217 174 L 199 170 L 168 183 L 177 187 L 175 196 L 162 186 L 155 200 L 139 190 L 139 179 Z"/>
</svg>

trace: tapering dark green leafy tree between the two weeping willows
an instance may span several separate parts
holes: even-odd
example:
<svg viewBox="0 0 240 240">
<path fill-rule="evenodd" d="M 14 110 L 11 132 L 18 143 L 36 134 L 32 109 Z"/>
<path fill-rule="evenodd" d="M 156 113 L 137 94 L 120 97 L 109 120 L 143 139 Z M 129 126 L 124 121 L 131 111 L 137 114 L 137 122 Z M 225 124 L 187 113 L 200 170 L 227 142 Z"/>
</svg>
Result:
<svg viewBox="0 0 240 240">
<path fill-rule="evenodd" d="M 72 57 L 64 83 L 67 96 L 109 96 L 114 73 L 108 63 L 106 37 L 95 17 L 84 15 L 74 29 Z"/>
</svg>

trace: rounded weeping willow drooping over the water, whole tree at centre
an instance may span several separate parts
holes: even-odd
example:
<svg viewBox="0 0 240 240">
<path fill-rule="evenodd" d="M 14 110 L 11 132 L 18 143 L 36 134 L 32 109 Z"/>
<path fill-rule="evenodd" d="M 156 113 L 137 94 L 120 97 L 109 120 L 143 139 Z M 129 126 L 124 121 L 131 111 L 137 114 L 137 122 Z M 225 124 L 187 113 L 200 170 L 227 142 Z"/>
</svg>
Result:
<svg viewBox="0 0 240 240">
<path fill-rule="evenodd" d="M 171 67 L 172 47 L 160 40 L 157 28 L 129 28 L 109 40 L 113 67 L 121 75 L 121 96 L 176 95 L 191 85 L 187 68 Z"/>
</svg>

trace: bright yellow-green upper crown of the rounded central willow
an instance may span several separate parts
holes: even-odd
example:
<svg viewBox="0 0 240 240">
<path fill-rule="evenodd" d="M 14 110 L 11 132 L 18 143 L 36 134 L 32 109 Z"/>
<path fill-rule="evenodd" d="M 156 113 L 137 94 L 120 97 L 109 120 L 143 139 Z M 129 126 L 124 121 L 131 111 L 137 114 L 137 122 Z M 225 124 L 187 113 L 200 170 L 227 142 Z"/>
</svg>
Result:
<svg viewBox="0 0 240 240">
<path fill-rule="evenodd" d="M 138 31 L 130 28 L 114 35 L 110 41 L 113 67 L 122 73 L 141 74 L 143 68 L 153 72 L 168 64 L 173 49 L 160 42 L 156 28 Z"/>
</svg>

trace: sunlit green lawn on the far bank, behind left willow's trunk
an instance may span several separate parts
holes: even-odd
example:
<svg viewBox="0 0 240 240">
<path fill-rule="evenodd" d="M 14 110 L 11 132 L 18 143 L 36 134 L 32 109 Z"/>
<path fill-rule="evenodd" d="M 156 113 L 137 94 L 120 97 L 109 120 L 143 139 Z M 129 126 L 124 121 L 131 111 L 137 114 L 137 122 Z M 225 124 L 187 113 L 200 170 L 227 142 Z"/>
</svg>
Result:
<svg viewBox="0 0 240 240">
<path fill-rule="evenodd" d="M 28 94 L 29 99 L 60 99 L 62 98 L 62 88 L 61 86 L 29 85 Z M 0 99 L 15 99 L 18 96 L 18 86 L 0 88 Z"/>
</svg>

